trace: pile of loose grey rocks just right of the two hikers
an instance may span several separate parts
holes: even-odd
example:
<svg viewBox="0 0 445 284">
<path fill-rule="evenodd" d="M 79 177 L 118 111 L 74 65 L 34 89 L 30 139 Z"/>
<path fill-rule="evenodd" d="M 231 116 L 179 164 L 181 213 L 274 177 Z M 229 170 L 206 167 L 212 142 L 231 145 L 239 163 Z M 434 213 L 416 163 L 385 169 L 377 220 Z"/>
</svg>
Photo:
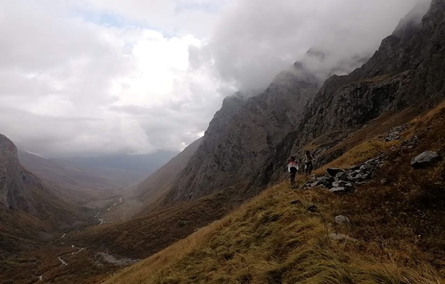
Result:
<svg viewBox="0 0 445 284">
<path fill-rule="evenodd" d="M 351 192 L 355 184 L 369 180 L 372 177 L 372 172 L 381 167 L 383 163 L 383 157 L 376 157 L 349 169 L 327 168 L 323 177 L 308 181 L 302 187 L 322 186 L 337 194 Z"/>
</svg>

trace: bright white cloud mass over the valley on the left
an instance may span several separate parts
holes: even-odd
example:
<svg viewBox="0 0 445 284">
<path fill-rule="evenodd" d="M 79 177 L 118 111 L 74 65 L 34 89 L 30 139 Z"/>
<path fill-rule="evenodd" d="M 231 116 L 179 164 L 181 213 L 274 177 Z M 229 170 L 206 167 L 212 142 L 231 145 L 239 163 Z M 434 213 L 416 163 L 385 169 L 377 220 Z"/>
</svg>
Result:
<svg viewBox="0 0 445 284">
<path fill-rule="evenodd" d="M 201 40 L 30 4 L 0 9 L 0 133 L 21 148 L 146 154 L 180 149 L 207 127 L 222 98 L 205 67 L 188 70 Z"/>
</svg>

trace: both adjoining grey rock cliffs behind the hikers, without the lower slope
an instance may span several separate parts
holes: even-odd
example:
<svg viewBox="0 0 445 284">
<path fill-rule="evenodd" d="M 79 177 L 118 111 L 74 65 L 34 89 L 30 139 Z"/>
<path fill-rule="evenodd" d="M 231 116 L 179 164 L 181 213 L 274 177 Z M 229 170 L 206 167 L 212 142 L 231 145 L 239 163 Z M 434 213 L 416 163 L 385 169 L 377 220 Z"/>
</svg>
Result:
<svg viewBox="0 0 445 284">
<path fill-rule="evenodd" d="M 433 0 L 425 12 L 413 10 L 361 68 L 330 77 L 320 90 L 315 78 L 301 76 L 302 64 L 294 64 L 297 72 L 280 74 L 262 94 L 234 98 L 239 101 L 231 111 L 223 105 L 167 202 L 241 183 L 243 192 L 258 191 L 280 181 L 288 157 L 300 156 L 315 139 L 324 137 L 327 149 L 383 113 L 437 103 L 445 97 L 445 2 Z M 341 154 L 342 149 L 319 160 Z M 368 179 L 365 170 L 351 173 L 350 181 Z"/>
</svg>

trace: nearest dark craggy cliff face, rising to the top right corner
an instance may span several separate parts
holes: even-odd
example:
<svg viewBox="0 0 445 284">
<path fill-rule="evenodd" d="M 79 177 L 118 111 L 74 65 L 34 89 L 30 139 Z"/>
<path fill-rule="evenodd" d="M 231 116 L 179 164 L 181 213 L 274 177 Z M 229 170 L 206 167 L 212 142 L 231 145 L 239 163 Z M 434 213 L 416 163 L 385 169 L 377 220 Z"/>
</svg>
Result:
<svg viewBox="0 0 445 284">
<path fill-rule="evenodd" d="M 300 123 L 270 157 L 274 165 L 263 165 L 264 183 L 279 179 L 283 160 L 291 153 L 302 156 L 315 139 L 327 140 L 327 147 L 309 147 L 322 152 L 384 113 L 395 114 L 413 105 L 421 110 L 442 100 L 444 42 L 445 2 L 433 0 L 429 9 L 416 7 L 361 68 L 325 81 Z"/>
</svg>

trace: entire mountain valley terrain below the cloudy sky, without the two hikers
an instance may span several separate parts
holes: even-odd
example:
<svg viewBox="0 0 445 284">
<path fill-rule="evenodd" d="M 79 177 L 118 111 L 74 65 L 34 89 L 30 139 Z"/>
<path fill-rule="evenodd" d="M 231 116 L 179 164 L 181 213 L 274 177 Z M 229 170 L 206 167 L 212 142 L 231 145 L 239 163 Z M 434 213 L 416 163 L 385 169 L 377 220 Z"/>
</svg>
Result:
<svg viewBox="0 0 445 284">
<path fill-rule="evenodd" d="M 179 153 L 46 159 L 0 134 L 0 283 L 445 283 L 444 42 L 432 0 L 345 74 L 310 48 Z"/>
</svg>

